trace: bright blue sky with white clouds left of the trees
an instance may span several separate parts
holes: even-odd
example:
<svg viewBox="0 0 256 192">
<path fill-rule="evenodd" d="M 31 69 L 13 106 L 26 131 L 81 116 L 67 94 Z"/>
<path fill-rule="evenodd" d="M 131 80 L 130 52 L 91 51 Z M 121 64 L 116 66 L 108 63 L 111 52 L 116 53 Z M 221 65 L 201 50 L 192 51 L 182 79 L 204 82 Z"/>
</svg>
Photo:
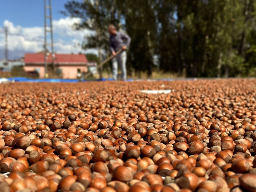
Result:
<svg viewBox="0 0 256 192">
<path fill-rule="evenodd" d="M 79 43 L 89 30 L 74 31 L 72 25 L 79 18 L 69 18 L 60 13 L 67 0 L 52 0 L 54 49 L 57 52 L 85 52 Z M 0 0 L 0 59 L 4 58 L 4 26 L 9 29 L 9 58 L 19 58 L 25 52 L 42 50 L 44 44 L 44 0 Z M 50 40 L 50 35 L 48 35 Z M 49 41 L 50 42 L 50 41 Z M 95 50 L 87 50 L 95 52 Z"/>
</svg>

